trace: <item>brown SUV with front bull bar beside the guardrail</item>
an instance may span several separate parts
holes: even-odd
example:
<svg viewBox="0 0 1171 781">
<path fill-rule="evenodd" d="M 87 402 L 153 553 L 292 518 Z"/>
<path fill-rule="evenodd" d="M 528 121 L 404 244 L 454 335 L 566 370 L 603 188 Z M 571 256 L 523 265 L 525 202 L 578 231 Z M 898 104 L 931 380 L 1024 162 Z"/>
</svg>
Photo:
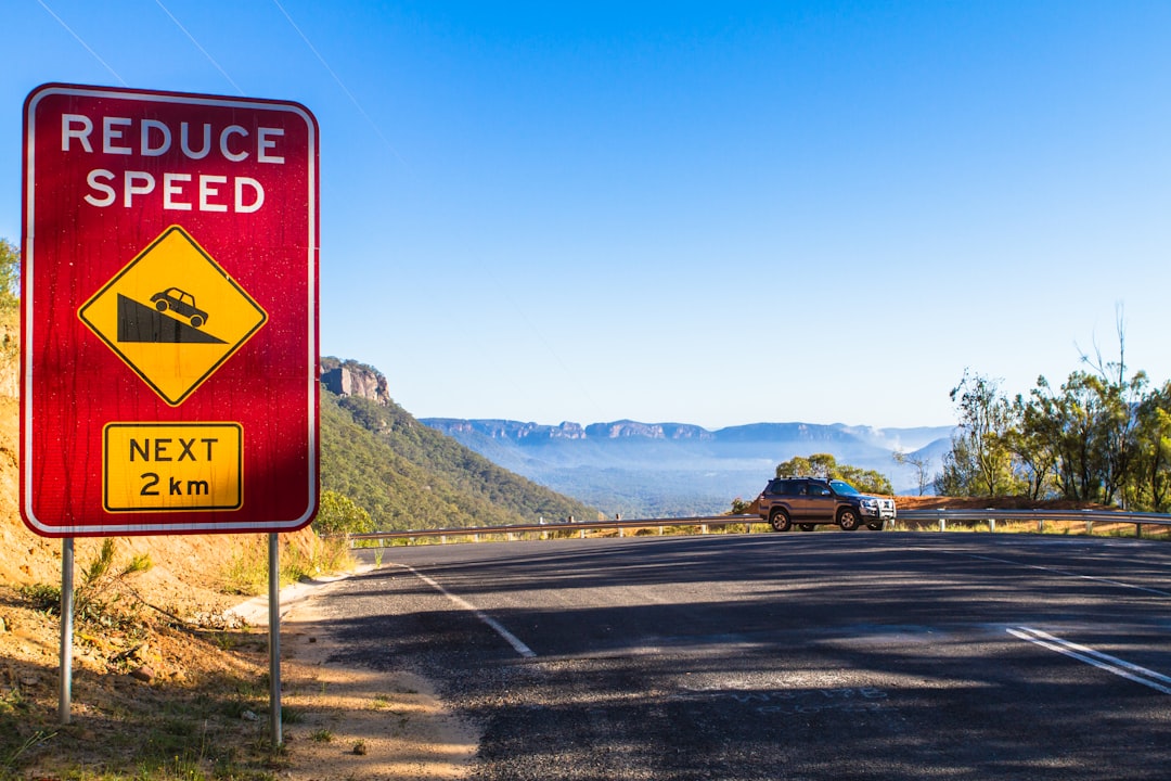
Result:
<svg viewBox="0 0 1171 781">
<path fill-rule="evenodd" d="M 844 480 L 776 478 L 758 502 L 760 516 L 778 532 L 788 532 L 794 523 L 804 532 L 817 523 L 836 523 L 847 532 L 862 523 L 881 529 L 883 521 L 895 518 L 893 499 L 868 496 Z"/>
</svg>

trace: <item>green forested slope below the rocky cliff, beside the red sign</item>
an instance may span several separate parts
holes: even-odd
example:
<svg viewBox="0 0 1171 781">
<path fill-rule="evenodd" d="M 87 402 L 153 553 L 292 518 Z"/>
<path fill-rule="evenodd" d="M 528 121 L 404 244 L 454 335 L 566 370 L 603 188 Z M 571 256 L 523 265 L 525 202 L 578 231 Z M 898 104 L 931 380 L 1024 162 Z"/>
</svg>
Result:
<svg viewBox="0 0 1171 781">
<path fill-rule="evenodd" d="M 349 496 L 370 513 L 379 530 L 597 515 L 596 509 L 500 468 L 389 399 L 377 403 L 326 388 L 321 487 Z"/>
</svg>

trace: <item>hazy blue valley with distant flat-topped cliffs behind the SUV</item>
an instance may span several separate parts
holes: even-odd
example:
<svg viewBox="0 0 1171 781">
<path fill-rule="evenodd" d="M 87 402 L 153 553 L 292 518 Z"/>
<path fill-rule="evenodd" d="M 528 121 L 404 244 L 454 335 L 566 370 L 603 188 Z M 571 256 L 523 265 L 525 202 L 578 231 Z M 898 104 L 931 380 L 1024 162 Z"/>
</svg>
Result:
<svg viewBox="0 0 1171 781">
<path fill-rule="evenodd" d="M 915 470 L 896 464 L 893 454 L 930 459 L 933 477 L 954 430 L 809 423 L 708 430 L 636 420 L 583 426 L 461 418 L 422 418 L 420 423 L 534 482 L 625 518 L 726 512 L 733 499 L 755 498 L 778 464 L 814 453 L 876 470 L 891 479 L 897 493 L 917 494 Z"/>
</svg>

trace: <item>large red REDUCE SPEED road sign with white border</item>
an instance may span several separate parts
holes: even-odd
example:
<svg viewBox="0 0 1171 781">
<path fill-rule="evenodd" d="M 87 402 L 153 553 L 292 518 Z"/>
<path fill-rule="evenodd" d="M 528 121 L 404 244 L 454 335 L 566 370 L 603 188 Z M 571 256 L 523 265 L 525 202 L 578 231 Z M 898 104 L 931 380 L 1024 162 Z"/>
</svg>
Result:
<svg viewBox="0 0 1171 781">
<path fill-rule="evenodd" d="M 317 507 L 317 124 L 46 84 L 25 102 L 21 516 L 290 532 Z"/>
</svg>

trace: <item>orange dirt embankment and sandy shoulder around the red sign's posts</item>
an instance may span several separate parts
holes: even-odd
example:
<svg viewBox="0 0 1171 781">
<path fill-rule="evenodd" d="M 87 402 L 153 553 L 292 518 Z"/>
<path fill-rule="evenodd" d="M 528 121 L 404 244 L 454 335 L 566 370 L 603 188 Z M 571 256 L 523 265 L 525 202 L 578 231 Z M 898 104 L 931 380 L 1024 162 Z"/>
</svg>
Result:
<svg viewBox="0 0 1171 781">
<path fill-rule="evenodd" d="M 282 623 L 286 745 L 272 751 L 268 635 L 232 612 L 225 568 L 266 535 L 121 537 L 78 604 L 71 724 L 57 719 L 61 541 L 19 515 L 16 399 L 0 383 L 0 781 L 60 777 L 452 779 L 475 734 L 425 680 L 328 663 L 313 598 Z M 292 546 L 317 544 L 304 530 Z M 102 540 L 75 543 L 76 582 Z M 144 571 L 117 574 L 138 559 Z M 328 589 L 328 587 L 324 587 Z M 263 611 L 261 611 L 261 615 Z M 263 623 L 262 619 L 258 619 Z M 91 775 L 85 775 L 87 773 Z"/>
</svg>

